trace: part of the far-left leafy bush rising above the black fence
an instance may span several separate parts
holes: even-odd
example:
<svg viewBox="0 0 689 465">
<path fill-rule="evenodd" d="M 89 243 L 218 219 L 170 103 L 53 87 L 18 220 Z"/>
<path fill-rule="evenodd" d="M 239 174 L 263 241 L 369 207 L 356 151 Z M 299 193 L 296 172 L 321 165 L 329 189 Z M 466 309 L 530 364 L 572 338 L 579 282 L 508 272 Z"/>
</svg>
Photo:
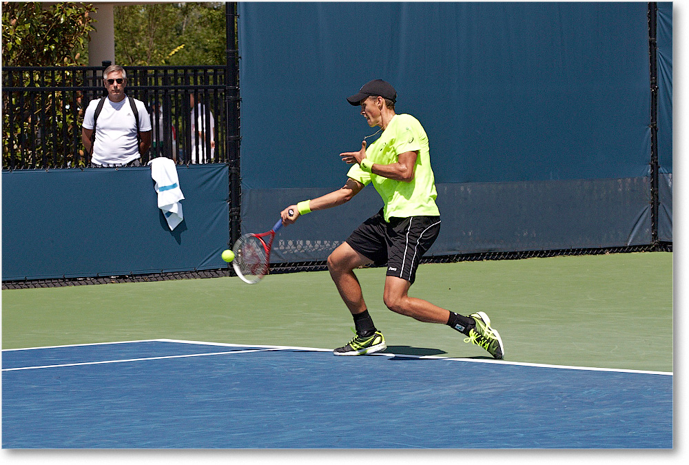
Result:
<svg viewBox="0 0 689 465">
<path fill-rule="evenodd" d="M 3 65 L 86 64 L 94 11 L 85 3 L 3 2 Z"/>
</svg>

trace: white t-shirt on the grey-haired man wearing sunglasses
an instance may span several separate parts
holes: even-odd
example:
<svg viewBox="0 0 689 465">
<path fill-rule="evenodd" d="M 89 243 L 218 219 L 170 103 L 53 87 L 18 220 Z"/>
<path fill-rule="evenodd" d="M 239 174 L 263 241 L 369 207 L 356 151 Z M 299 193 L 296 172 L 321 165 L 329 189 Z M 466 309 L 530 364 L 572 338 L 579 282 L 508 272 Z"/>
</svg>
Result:
<svg viewBox="0 0 689 465">
<path fill-rule="evenodd" d="M 100 99 L 90 101 L 84 113 L 83 127 L 93 129 L 93 116 Z M 138 130 L 152 129 L 151 117 L 142 101 L 134 99 L 138 110 Z M 138 153 L 136 119 L 127 97 L 121 102 L 105 99 L 101 114 L 96 121 L 96 140 L 92 148 L 91 161 L 98 165 L 124 165 L 141 157 Z"/>
</svg>

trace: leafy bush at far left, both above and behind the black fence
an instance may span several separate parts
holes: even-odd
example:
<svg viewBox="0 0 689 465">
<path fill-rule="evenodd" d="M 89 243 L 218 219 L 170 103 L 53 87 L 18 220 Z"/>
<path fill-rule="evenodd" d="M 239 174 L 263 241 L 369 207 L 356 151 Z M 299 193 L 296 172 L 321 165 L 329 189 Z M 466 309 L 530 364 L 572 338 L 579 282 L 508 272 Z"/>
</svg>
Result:
<svg viewBox="0 0 689 465">
<path fill-rule="evenodd" d="M 94 8 L 84 3 L 3 2 L 3 66 L 85 65 Z M 79 85 L 79 68 L 53 72 L 3 70 L 3 86 Z M 81 92 L 3 92 L 3 168 L 76 165 L 73 134 Z M 12 157 L 12 154 L 14 156 Z M 81 161 L 83 164 L 83 161 Z"/>
</svg>

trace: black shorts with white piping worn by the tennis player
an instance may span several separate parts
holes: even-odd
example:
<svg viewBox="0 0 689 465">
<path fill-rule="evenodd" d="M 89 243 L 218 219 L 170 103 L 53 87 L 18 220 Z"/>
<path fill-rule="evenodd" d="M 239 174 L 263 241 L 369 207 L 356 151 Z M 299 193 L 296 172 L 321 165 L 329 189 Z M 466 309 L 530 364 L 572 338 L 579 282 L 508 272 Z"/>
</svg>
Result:
<svg viewBox="0 0 689 465">
<path fill-rule="evenodd" d="M 387 276 L 397 276 L 413 284 L 421 257 L 440 234 L 440 216 L 390 218 L 385 223 L 383 211 L 358 227 L 347 244 L 376 266 L 386 265 Z"/>
</svg>

